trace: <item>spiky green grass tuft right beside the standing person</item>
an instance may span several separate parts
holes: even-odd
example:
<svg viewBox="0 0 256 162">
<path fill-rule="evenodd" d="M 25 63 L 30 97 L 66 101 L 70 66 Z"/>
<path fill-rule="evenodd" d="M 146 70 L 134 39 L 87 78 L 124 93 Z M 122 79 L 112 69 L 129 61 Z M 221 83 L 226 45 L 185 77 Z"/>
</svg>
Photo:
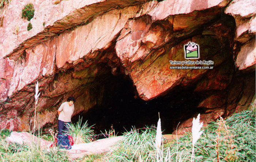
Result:
<svg viewBox="0 0 256 162">
<path fill-rule="evenodd" d="M 76 125 L 71 123 L 65 132 L 73 137 L 75 144 L 91 142 L 94 135 L 93 126 L 89 127 L 87 121 L 82 125 L 82 118 L 80 119 L 80 116 Z"/>
</svg>

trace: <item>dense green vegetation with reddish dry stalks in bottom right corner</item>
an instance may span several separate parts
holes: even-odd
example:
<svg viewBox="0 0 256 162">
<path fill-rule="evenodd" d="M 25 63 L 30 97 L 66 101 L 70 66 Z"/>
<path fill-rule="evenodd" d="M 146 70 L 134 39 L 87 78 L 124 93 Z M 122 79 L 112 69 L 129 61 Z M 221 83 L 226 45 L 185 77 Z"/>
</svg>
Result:
<svg viewBox="0 0 256 162">
<path fill-rule="evenodd" d="M 223 120 L 211 122 L 195 145 L 195 161 L 255 161 L 255 110 L 243 111 Z M 170 146 L 174 157 L 182 155 L 189 161 L 191 133 L 178 139 L 177 146 Z M 172 157 L 172 161 L 175 158 Z"/>
</svg>

